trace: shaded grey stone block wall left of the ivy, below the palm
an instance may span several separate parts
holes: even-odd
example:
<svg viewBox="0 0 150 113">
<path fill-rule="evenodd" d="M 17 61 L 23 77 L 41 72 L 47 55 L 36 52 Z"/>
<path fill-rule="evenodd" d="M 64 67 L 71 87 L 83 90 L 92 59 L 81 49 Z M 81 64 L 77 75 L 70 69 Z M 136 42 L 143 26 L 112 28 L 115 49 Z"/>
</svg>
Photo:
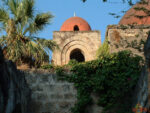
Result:
<svg viewBox="0 0 150 113">
<path fill-rule="evenodd" d="M 31 113 L 71 113 L 76 102 L 72 83 L 58 81 L 56 74 L 46 70 L 30 70 L 26 80 L 32 90 Z"/>
</svg>

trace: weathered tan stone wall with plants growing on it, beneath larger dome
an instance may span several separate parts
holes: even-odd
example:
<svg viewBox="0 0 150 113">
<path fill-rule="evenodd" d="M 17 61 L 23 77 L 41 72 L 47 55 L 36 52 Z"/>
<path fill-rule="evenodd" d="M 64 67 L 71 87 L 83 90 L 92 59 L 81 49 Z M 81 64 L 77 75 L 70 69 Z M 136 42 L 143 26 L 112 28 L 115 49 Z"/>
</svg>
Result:
<svg viewBox="0 0 150 113">
<path fill-rule="evenodd" d="M 144 44 L 149 31 L 150 26 L 109 25 L 106 38 L 109 41 L 110 52 L 131 50 L 144 58 Z"/>
</svg>

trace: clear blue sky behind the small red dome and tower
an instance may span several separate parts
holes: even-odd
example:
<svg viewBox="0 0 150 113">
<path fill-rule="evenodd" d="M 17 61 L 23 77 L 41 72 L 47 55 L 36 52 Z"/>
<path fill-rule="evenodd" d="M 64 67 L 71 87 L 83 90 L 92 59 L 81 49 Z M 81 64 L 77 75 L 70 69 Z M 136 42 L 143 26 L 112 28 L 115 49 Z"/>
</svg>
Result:
<svg viewBox="0 0 150 113">
<path fill-rule="evenodd" d="M 50 11 L 54 15 L 51 25 L 40 32 L 39 37 L 52 39 L 53 31 L 59 31 L 63 22 L 76 12 L 76 16 L 84 18 L 92 30 L 101 31 L 102 42 L 107 25 L 118 24 L 121 19 L 116 19 L 109 13 L 119 13 L 130 8 L 127 4 L 122 4 L 121 0 L 108 0 L 107 3 L 102 0 L 88 0 L 86 3 L 81 0 L 36 0 L 35 7 L 38 12 Z"/>
</svg>

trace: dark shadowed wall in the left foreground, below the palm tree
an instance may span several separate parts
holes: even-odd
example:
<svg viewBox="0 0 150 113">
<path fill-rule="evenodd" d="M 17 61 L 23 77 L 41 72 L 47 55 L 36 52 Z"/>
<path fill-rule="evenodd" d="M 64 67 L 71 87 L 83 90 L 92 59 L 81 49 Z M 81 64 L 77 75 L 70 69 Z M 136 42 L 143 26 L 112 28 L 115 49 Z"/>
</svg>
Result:
<svg viewBox="0 0 150 113">
<path fill-rule="evenodd" d="M 4 59 L 0 48 L 0 113 L 29 113 L 30 89 L 24 73 Z"/>
</svg>

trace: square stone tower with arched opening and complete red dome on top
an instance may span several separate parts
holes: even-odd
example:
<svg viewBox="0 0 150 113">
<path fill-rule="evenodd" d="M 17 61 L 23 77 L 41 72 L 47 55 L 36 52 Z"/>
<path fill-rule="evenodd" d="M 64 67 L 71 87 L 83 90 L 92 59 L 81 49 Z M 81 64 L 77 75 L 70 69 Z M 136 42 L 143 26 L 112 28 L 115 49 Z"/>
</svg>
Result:
<svg viewBox="0 0 150 113">
<path fill-rule="evenodd" d="M 67 19 L 60 31 L 53 32 L 53 41 L 59 49 L 53 51 L 54 65 L 65 65 L 72 59 L 78 62 L 96 59 L 96 51 L 101 45 L 100 32 L 92 31 L 81 17 Z"/>
</svg>

